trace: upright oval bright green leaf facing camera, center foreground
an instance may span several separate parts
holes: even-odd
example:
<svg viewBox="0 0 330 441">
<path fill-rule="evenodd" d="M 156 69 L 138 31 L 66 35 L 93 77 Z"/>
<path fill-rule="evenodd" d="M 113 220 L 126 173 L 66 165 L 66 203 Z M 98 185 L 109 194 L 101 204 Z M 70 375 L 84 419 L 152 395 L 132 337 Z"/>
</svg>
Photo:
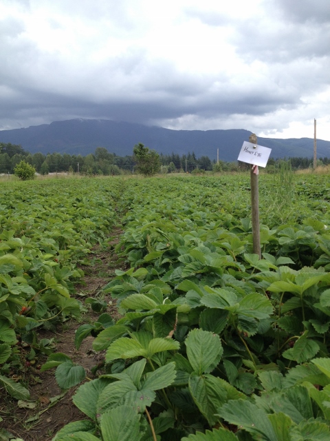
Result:
<svg viewBox="0 0 330 441">
<path fill-rule="evenodd" d="M 187 356 L 195 372 L 211 372 L 223 354 L 221 341 L 217 334 L 193 329 L 186 338 Z"/>
</svg>

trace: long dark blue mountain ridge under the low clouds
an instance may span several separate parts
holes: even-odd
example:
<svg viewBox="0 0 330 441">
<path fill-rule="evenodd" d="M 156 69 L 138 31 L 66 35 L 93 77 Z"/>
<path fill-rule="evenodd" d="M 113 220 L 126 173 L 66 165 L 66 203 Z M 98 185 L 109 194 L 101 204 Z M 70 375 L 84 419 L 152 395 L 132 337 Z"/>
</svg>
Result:
<svg viewBox="0 0 330 441">
<path fill-rule="evenodd" d="M 94 153 L 96 147 L 106 147 L 119 156 L 131 155 L 136 143 L 143 143 L 159 153 L 180 156 L 195 152 L 197 157 L 235 161 L 243 141 L 248 141 L 248 130 L 169 130 L 163 127 L 96 119 L 71 119 L 22 129 L 1 130 L 0 142 L 19 144 L 31 153 L 58 152 Z M 285 156 L 311 157 L 314 140 L 258 138 L 259 145 L 272 148 L 273 158 Z M 330 156 L 330 141 L 317 141 L 318 157 Z"/>
</svg>

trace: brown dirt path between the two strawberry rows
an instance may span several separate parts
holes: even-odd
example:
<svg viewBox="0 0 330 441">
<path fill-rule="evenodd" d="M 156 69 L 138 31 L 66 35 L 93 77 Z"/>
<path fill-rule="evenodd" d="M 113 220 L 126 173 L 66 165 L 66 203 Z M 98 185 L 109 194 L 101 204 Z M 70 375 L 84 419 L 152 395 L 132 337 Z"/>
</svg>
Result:
<svg viewBox="0 0 330 441">
<path fill-rule="evenodd" d="M 118 261 L 118 256 L 113 251 L 115 244 L 118 243 L 120 233 L 120 229 L 112 232 L 113 236 L 109 238 L 107 249 L 94 247 L 89 255 L 89 265 L 81 267 L 85 272 L 85 278 L 83 283 L 76 285 L 76 296 L 80 301 L 83 302 L 87 297 L 102 296 L 102 287 L 115 276 L 115 269 L 126 269 L 123 268 L 123 264 Z M 117 318 L 118 314 L 111 297 L 106 296 L 103 300 L 108 304 L 107 314 Z M 87 307 L 89 311 L 81 318 L 80 322 L 71 320 L 56 333 L 41 330 L 39 338 L 54 338 L 55 351 L 65 353 L 75 363 L 82 365 L 87 371 L 87 376 L 91 378 L 90 369 L 98 365 L 98 362 L 104 358 L 104 354 L 92 349 L 94 338 L 91 336 L 83 340 L 79 351 L 74 348 L 76 329 L 85 322 L 95 321 L 100 315 L 92 311 L 89 305 Z M 46 360 L 47 357 L 43 356 L 38 360 L 38 363 L 42 365 Z M 54 369 L 41 372 L 40 367 L 37 369 L 38 365 L 35 366 L 30 366 L 23 375 L 29 382 L 31 393 L 31 401 L 25 403 L 25 407 L 20 408 L 17 400 L 9 396 L 0 398 L 0 417 L 3 418 L 3 421 L 0 422 L 0 428 L 8 431 L 8 435 L 14 435 L 23 441 L 51 441 L 56 432 L 65 424 L 85 419 L 86 416 L 72 403 L 72 395 L 78 386 L 63 393 L 56 383 Z M 28 405 L 33 408 L 26 408 Z M 0 432 L 1 441 L 10 439 L 9 436 L 1 438 L 1 435 Z"/>
</svg>

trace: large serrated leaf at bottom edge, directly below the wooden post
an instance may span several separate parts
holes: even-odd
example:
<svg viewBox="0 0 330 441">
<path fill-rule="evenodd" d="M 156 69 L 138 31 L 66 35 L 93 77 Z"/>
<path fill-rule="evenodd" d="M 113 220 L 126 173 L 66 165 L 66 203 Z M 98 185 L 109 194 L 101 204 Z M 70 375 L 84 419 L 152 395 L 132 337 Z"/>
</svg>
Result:
<svg viewBox="0 0 330 441">
<path fill-rule="evenodd" d="M 252 402 L 230 400 L 223 404 L 217 414 L 230 424 L 235 424 L 250 432 L 255 439 L 278 441 L 272 423 L 267 418 L 267 413 Z"/>
</svg>

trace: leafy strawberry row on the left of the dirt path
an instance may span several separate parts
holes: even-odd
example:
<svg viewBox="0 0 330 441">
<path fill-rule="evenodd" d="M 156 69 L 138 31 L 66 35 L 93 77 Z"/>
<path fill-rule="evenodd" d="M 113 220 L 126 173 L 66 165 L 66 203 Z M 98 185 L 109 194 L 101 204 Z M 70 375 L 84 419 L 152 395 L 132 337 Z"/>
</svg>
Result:
<svg viewBox="0 0 330 441">
<path fill-rule="evenodd" d="M 80 302 L 70 296 L 83 276 L 77 263 L 115 222 L 121 186 L 89 179 L 1 184 L 0 386 L 14 398 L 29 396 L 11 378 L 25 357 L 30 365 L 37 353 L 51 352 L 51 340 L 38 340 L 36 330 L 79 316 Z"/>
</svg>

